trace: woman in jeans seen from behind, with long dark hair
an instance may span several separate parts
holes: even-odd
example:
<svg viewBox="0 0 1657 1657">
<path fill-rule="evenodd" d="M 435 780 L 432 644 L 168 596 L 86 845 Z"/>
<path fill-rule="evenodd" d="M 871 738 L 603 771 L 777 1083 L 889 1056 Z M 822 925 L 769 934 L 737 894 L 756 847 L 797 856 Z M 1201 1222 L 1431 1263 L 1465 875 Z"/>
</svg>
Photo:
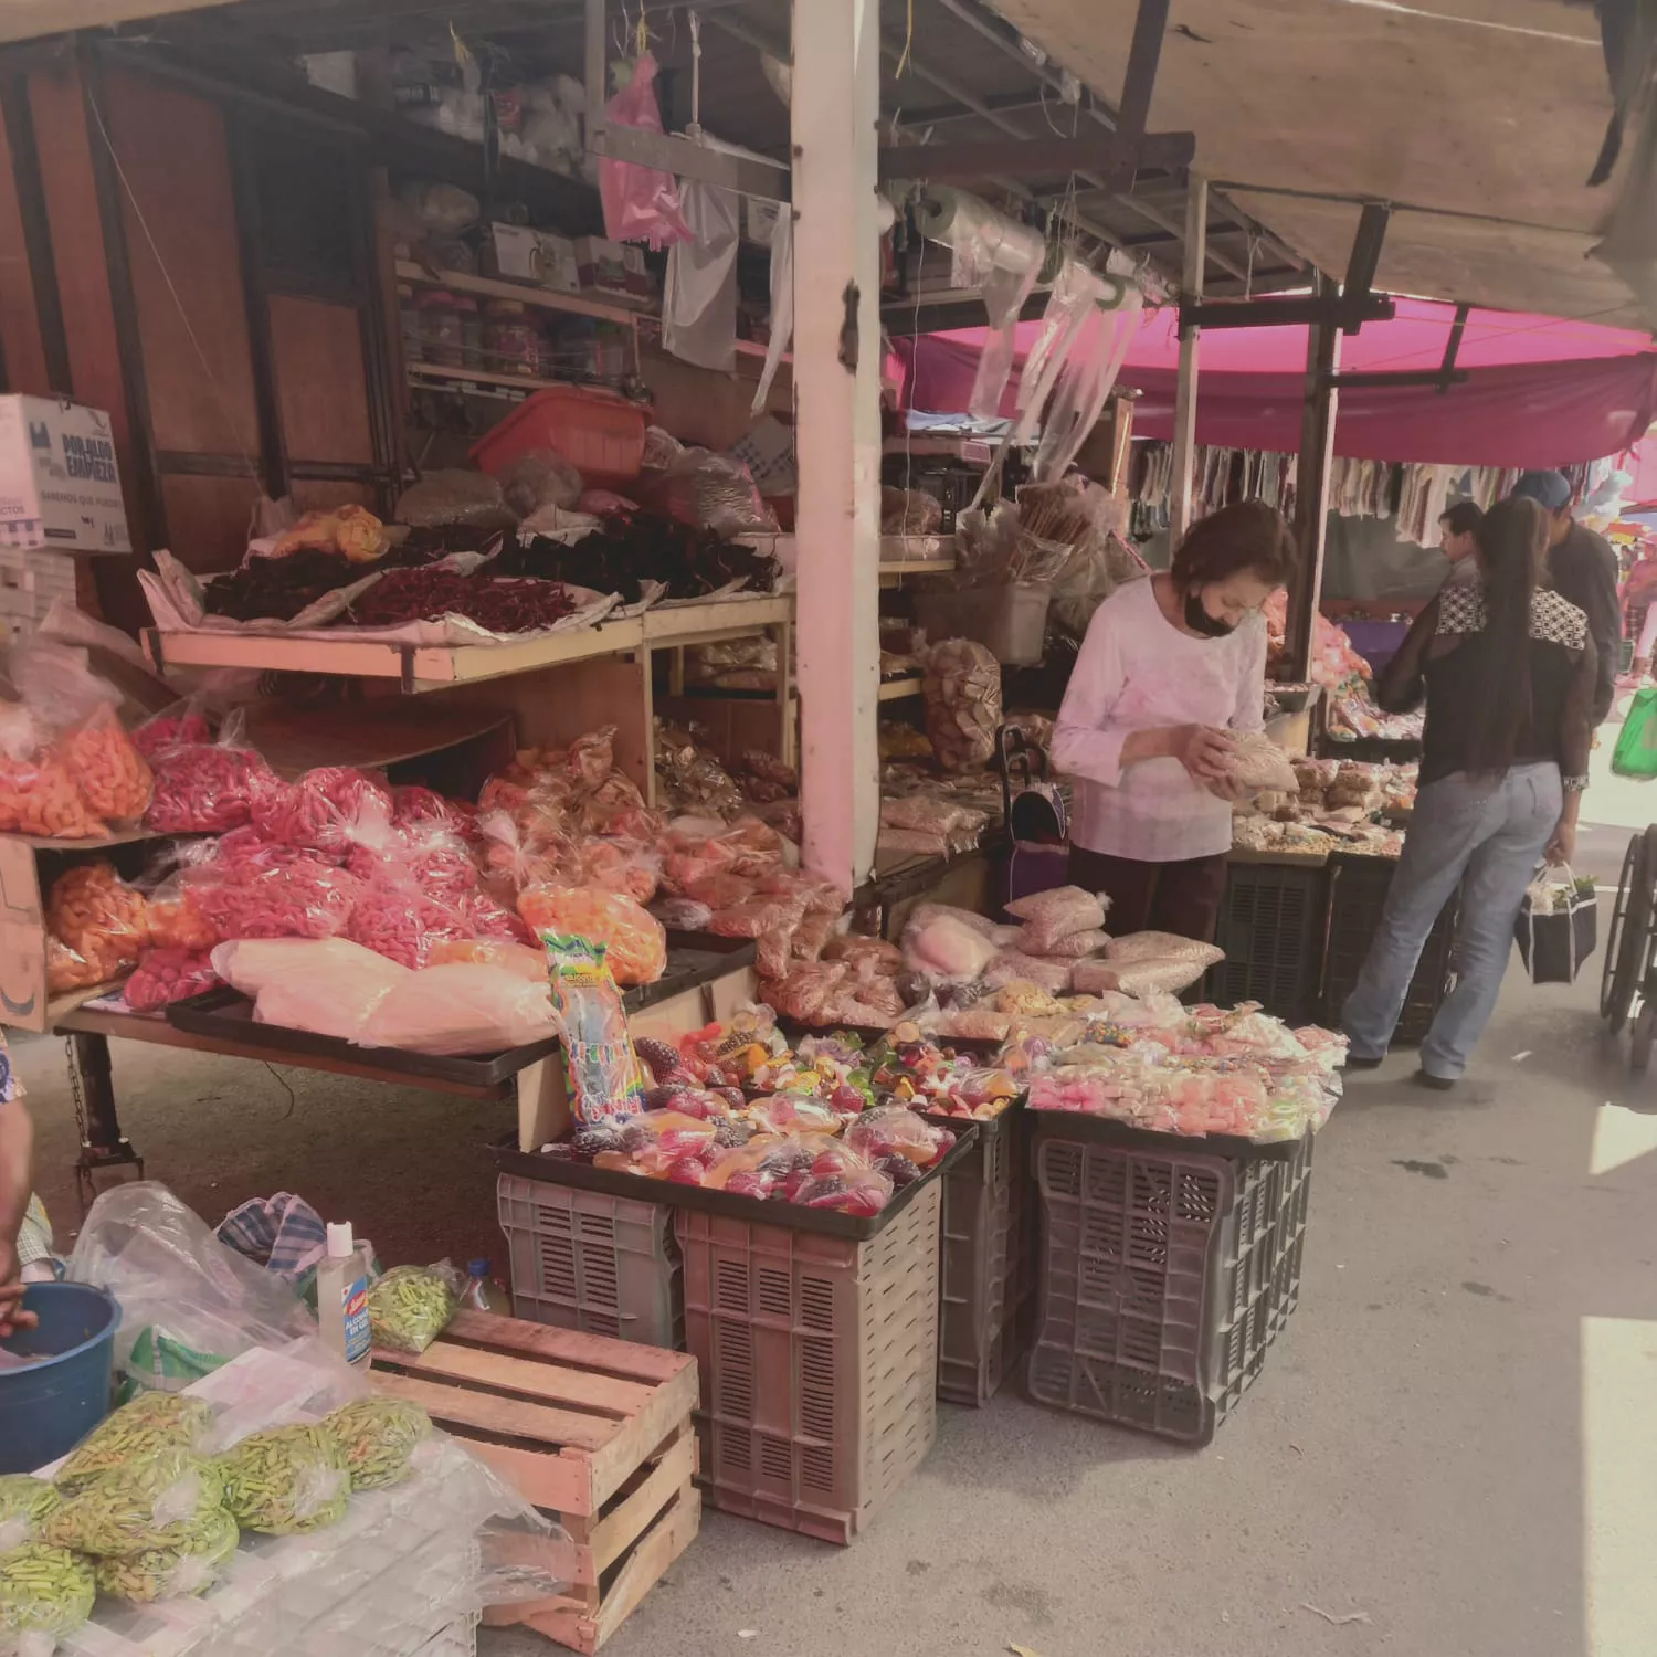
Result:
<svg viewBox="0 0 1657 1657">
<path fill-rule="evenodd" d="M 1490 1022 L 1538 863 L 1576 850 L 1597 674 L 1587 616 L 1538 585 L 1546 512 L 1501 500 L 1475 534 L 1480 580 L 1447 585 L 1422 610 L 1377 689 L 1392 713 L 1427 698 L 1420 790 L 1341 1019 L 1349 1065 L 1380 1064 L 1427 933 L 1460 885 L 1457 984 L 1415 1077 L 1435 1089 L 1455 1085 Z"/>
</svg>

